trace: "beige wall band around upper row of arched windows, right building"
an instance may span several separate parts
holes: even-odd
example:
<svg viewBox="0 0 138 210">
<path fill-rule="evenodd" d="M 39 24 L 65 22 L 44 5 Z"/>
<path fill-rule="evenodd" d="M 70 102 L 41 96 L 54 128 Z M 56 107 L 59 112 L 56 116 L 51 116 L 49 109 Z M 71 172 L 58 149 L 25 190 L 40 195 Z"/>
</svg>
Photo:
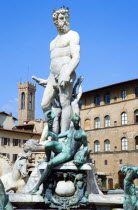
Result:
<svg viewBox="0 0 138 210">
<path fill-rule="evenodd" d="M 90 129 L 94 129 L 94 119 L 96 117 L 100 118 L 101 128 L 105 127 L 104 117 L 106 115 L 110 116 L 111 126 L 120 126 L 121 123 L 121 113 L 126 112 L 128 116 L 128 124 L 134 124 L 134 111 L 138 109 L 138 98 L 125 100 L 122 102 L 111 103 L 109 105 L 102 105 L 98 107 L 93 107 L 90 109 L 81 110 L 81 124 L 84 127 L 86 119 L 90 119 Z M 115 124 L 116 121 L 116 124 Z"/>
</svg>

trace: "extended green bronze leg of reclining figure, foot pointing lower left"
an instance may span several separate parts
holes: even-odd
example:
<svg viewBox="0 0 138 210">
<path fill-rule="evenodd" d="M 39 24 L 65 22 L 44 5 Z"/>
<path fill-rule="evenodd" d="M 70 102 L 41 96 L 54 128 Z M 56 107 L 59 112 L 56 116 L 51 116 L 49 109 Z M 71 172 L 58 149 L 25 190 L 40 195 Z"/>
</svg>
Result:
<svg viewBox="0 0 138 210">
<path fill-rule="evenodd" d="M 40 185 L 44 182 L 44 180 L 47 179 L 49 176 L 52 168 L 60 163 L 64 163 L 68 160 L 70 160 L 72 157 L 68 153 L 59 153 L 56 157 L 54 157 L 52 160 L 50 160 L 47 164 L 47 167 L 45 168 L 44 172 L 42 173 L 42 176 L 38 182 L 38 184 L 34 187 L 34 189 L 30 193 L 36 193 L 39 190 Z"/>
</svg>

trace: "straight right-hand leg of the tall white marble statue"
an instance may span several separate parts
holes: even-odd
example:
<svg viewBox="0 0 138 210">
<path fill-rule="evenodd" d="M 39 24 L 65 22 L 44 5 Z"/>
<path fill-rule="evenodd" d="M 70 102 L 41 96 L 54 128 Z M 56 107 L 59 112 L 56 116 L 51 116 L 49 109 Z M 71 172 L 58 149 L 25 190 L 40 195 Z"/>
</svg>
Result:
<svg viewBox="0 0 138 210">
<path fill-rule="evenodd" d="M 62 107 L 61 114 L 61 133 L 66 132 L 70 127 L 70 122 L 72 118 L 72 108 L 70 105 L 70 100 L 72 97 L 73 83 L 76 78 L 75 72 L 73 72 L 71 77 L 71 82 L 66 85 L 65 88 L 60 87 L 60 103 Z"/>
</svg>

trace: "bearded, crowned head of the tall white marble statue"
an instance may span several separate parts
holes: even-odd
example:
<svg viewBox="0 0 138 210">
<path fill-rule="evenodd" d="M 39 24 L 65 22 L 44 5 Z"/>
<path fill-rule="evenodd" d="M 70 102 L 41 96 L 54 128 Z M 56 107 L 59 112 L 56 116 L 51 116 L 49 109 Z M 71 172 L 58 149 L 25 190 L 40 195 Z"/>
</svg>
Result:
<svg viewBox="0 0 138 210">
<path fill-rule="evenodd" d="M 58 10 L 53 10 L 53 22 L 59 33 L 67 33 L 70 28 L 69 9 L 61 7 Z"/>
</svg>

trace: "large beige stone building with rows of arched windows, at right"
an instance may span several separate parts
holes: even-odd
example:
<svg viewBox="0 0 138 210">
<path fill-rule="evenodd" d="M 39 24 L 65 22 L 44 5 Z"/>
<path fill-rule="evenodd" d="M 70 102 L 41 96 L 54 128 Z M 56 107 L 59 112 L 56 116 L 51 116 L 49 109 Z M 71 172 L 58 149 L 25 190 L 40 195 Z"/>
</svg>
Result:
<svg viewBox="0 0 138 210">
<path fill-rule="evenodd" d="M 123 188 L 120 167 L 138 167 L 138 79 L 84 92 L 81 125 L 103 190 Z"/>
</svg>

